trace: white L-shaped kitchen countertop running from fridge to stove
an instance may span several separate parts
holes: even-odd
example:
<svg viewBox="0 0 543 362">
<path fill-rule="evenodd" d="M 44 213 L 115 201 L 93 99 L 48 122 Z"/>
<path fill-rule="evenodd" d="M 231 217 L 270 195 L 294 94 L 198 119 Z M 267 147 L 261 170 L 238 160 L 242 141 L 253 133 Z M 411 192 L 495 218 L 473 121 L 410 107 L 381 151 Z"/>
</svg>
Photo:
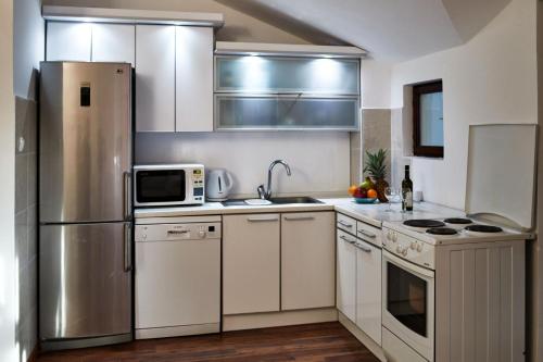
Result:
<svg viewBox="0 0 543 362">
<path fill-rule="evenodd" d="M 404 221 L 408 219 L 443 219 L 464 216 L 465 213 L 430 202 L 417 202 L 414 211 L 402 213 L 400 203 L 392 203 L 392 212 L 387 212 L 387 203 L 358 204 L 352 198 L 318 199 L 323 203 L 273 204 L 224 207 L 220 202 L 206 202 L 202 205 L 179 208 L 144 208 L 136 209 L 136 219 L 176 217 L 197 215 L 224 215 L 245 213 L 338 211 L 362 222 L 381 227 L 383 222 Z"/>
</svg>

